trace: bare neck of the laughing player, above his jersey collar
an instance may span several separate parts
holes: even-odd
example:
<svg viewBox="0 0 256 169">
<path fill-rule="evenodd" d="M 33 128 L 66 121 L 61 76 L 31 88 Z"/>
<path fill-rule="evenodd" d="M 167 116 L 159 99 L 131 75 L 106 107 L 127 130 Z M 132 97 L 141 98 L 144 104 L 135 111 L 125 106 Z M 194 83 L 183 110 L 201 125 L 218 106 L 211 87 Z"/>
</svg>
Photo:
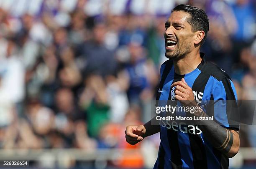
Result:
<svg viewBox="0 0 256 169">
<path fill-rule="evenodd" d="M 179 75 L 184 75 L 194 71 L 201 63 L 200 52 L 188 53 L 182 59 L 174 60 L 174 71 Z"/>
</svg>

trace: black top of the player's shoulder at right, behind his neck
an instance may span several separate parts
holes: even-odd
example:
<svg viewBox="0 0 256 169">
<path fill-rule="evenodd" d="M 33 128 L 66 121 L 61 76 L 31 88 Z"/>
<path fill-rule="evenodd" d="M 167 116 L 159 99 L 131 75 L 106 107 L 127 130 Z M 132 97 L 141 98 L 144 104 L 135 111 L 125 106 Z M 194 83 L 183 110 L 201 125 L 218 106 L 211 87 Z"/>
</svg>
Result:
<svg viewBox="0 0 256 169">
<path fill-rule="evenodd" d="M 217 81 L 221 81 L 223 79 L 231 80 L 230 76 L 228 76 L 228 73 L 226 73 L 225 71 L 223 71 L 223 69 L 211 62 L 206 61 L 200 71 L 206 76 L 212 76 Z"/>
</svg>

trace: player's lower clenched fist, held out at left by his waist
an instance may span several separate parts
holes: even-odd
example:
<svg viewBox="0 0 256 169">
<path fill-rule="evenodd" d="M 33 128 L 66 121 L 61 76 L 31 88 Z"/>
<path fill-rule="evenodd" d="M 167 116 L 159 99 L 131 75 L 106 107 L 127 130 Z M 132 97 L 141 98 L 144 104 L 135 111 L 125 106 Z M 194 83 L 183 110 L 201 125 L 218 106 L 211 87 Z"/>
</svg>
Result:
<svg viewBox="0 0 256 169">
<path fill-rule="evenodd" d="M 135 145 L 143 140 L 145 133 L 146 128 L 143 125 L 127 126 L 125 130 L 125 139 L 129 144 Z"/>
</svg>

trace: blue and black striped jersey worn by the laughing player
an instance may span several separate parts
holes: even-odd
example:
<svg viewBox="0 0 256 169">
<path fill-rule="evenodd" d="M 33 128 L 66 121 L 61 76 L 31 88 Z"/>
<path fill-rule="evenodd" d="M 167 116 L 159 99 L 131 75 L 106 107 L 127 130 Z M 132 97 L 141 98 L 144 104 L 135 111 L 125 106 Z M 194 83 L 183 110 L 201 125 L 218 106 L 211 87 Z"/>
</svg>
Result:
<svg viewBox="0 0 256 169">
<path fill-rule="evenodd" d="M 161 81 L 156 100 L 173 100 L 172 83 L 185 79 L 193 90 L 198 104 L 202 101 L 237 100 L 236 90 L 230 77 L 222 69 L 205 61 L 204 53 L 200 53 L 202 62 L 197 68 L 185 75 L 174 72 L 172 60 L 161 65 Z M 177 101 L 177 104 L 180 104 Z M 223 103 L 213 106 L 214 111 L 204 111 L 208 116 L 225 128 L 239 130 L 239 125 L 230 124 L 227 118 L 228 106 Z M 162 122 L 164 123 L 164 122 Z M 171 124 L 169 124 L 171 125 Z M 154 169 L 228 169 L 228 157 L 215 149 L 204 137 L 199 126 L 189 132 L 188 126 L 160 126 L 161 143 Z M 191 130 L 190 130 L 191 131 Z"/>
</svg>

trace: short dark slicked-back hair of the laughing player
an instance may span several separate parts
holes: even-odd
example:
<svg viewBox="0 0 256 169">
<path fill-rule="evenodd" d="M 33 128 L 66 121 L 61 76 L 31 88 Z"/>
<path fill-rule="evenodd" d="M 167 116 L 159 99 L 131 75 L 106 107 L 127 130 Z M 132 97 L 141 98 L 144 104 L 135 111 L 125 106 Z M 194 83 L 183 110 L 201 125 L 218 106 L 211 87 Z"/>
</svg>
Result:
<svg viewBox="0 0 256 169">
<path fill-rule="evenodd" d="M 202 45 L 205 42 L 209 31 L 209 19 L 205 11 L 194 6 L 184 4 L 176 6 L 172 9 L 172 12 L 173 11 L 184 11 L 190 14 L 190 18 L 187 20 L 187 22 L 192 26 L 192 31 L 195 32 L 203 30 L 205 32 L 205 37 L 200 42 Z"/>
</svg>

